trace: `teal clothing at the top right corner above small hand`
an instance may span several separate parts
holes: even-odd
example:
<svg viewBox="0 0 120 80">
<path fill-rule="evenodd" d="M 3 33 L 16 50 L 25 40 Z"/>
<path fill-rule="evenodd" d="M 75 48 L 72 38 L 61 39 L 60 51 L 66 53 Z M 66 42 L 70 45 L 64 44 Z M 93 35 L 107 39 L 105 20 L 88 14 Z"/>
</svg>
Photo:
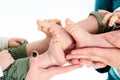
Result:
<svg viewBox="0 0 120 80">
<path fill-rule="evenodd" d="M 95 0 L 95 11 L 99 9 L 114 12 L 120 7 L 120 0 Z"/>
</svg>

